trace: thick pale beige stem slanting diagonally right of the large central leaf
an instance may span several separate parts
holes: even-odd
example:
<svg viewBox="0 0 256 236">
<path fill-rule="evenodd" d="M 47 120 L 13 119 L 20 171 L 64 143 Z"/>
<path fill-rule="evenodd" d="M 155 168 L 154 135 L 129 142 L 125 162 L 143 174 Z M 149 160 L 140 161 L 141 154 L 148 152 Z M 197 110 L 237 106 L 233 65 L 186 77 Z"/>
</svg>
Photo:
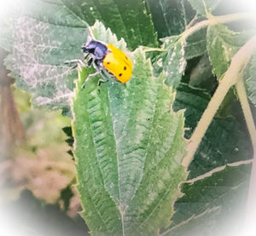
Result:
<svg viewBox="0 0 256 236">
<path fill-rule="evenodd" d="M 211 124 L 212 118 L 217 112 L 218 107 L 224 100 L 224 96 L 227 94 L 230 87 L 237 83 L 239 78 L 242 78 L 243 70 L 251 55 L 253 55 L 254 50 L 256 50 L 256 36 L 247 41 L 247 43 L 245 43 L 232 58 L 229 69 L 225 72 L 224 78 L 220 81 L 218 89 L 216 89 L 215 94 L 212 96 L 212 100 L 209 102 L 207 109 L 197 124 L 193 135 L 189 139 L 187 156 L 183 158 L 182 163 L 185 168 L 188 168 L 190 162 L 193 160 L 195 151 L 205 135 L 207 128 Z"/>
</svg>

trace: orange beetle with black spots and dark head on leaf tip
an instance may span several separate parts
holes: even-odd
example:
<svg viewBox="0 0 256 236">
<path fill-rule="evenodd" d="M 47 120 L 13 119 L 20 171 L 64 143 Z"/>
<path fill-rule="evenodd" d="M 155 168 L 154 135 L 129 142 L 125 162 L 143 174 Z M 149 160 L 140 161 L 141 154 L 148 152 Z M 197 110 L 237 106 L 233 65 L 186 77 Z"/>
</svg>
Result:
<svg viewBox="0 0 256 236">
<path fill-rule="evenodd" d="M 84 43 L 82 49 L 84 51 L 84 60 L 87 57 L 90 58 L 87 66 L 91 66 L 92 64 L 96 68 L 96 72 L 90 74 L 89 77 L 85 79 L 82 89 L 84 89 L 86 84 L 90 81 L 90 78 L 93 78 L 99 73 L 102 73 L 103 77 L 105 77 L 105 72 L 107 72 L 120 83 L 126 83 L 130 80 L 132 74 L 131 60 L 112 44 L 90 40 Z M 84 62 L 82 66 L 86 66 Z M 102 81 L 105 80 L 101 80 L 100 82 Z"/>
</svg>

